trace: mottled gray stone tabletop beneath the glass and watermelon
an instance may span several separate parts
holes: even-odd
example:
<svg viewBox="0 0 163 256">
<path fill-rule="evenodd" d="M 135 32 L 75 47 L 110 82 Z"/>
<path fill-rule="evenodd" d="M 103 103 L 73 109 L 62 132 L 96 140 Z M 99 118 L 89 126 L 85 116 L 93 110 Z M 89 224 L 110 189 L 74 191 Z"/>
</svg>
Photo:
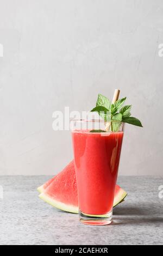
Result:
<svg viewBox="0 0 163 256">
<path fill-rule="evenodd" d="M 79 223 L 78 215 L 53 208 L 38 197 L 49 176 L 0 176 L 0 245 L 162 245 L 163 178 L 120 176 L 128 196 L 106 226 Z"/>
</svg>

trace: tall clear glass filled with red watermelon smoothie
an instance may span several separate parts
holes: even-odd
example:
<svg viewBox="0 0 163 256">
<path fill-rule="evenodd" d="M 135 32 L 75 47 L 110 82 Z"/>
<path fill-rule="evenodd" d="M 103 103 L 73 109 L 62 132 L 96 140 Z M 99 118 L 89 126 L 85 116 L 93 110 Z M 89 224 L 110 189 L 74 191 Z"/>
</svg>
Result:
<svg viewBox="0 0 163 256">
<path fill-rule="evenodd" d="M 124 123 L 72 120 L 71 130 L 80 222 L 110 224 Z"/>
</svg>

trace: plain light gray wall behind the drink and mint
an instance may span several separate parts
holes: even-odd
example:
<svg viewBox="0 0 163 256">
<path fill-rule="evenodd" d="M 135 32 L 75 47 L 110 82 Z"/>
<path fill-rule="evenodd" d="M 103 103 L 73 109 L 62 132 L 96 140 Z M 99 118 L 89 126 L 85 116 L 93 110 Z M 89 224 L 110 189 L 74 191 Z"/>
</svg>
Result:
<svg viewBox="0 0 163 256">
<path fill-rule="evenodd" d="M 162 174 L 162 0 L 1 0 L 0 43 L 0 174 L 59 172 L 71 137 L 52 113 L 115 88 L 144 126 L 126 126 L 120 174 Z"/>
</svg>

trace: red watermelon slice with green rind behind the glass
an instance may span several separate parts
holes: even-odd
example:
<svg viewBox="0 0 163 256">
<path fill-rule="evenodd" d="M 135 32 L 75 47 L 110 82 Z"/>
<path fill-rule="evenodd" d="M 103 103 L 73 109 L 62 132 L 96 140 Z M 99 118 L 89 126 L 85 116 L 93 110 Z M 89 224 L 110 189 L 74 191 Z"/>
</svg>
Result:
<svg viewBox="0 0 163 256">
<path fill-rule="evenodd" d="M 38 187 L 39 197 L 48 204 L 63 210 L 78 213 L 78 191 L 73 160 L 54 178 Z M 127 192 L 116 185 L 114 206 L 121 203 Z"/>
</svg>

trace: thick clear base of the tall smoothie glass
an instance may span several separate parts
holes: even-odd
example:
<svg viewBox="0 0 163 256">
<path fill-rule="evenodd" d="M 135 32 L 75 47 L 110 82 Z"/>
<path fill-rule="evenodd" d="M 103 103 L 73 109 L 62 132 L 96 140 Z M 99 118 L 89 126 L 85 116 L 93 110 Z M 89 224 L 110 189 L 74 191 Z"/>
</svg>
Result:
<svg viewBox="0 0 163 256">
<path fill-rule="evenodd" d="M 90 215 L 79 210 L 79 219 L 87 225 L 109 225 L 112 221 L 112 211 L 104 215 Z"/>
</svg>

